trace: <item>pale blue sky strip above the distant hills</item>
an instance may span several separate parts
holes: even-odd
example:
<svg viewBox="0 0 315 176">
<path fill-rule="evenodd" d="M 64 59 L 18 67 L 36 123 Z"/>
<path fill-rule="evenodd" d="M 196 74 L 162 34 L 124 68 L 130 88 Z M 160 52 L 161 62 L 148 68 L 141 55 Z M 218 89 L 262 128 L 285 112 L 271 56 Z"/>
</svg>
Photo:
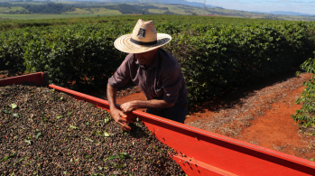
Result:
<svg viewBox="0 0 315 176">
<path fill-rule="evenodd" d="M 187 0 L 204 3 L 204 0 Z M 315 0 L 207 0 L 207 5 L 243 11 L 290 11 L 301 14 L 315 14 Z"/>
</svg>

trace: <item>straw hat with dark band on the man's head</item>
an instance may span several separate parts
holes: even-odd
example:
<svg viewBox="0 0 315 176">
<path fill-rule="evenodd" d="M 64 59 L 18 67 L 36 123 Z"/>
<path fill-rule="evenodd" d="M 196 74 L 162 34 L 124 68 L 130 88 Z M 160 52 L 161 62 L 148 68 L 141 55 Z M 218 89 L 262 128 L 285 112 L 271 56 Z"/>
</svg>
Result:
<svg viewBox="0 0 315 176">
<path fill-rule="evenodd" d="M 136 54 L 152 51 L 168 42 L 171 42 L 171 36 L 157 33 L 153 21 L 144 22 L 139 19 L 134 26 L 133 33 L 119 37 L 114 45 L 119 51 Z"/>
</svg>

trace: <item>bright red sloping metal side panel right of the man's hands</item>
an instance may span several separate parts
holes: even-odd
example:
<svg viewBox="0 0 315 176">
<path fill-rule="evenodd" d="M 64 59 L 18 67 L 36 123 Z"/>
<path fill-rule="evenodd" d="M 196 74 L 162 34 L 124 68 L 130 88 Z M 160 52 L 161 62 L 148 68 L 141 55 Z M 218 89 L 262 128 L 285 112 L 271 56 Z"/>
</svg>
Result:
<svg viewBox="0 0 315 176">
<path fill-rule="evenodd" d="M 315 162 L 134 111 L 155 136 L 199 162 L 236 175 L 315 175 Z"/>
</svg>

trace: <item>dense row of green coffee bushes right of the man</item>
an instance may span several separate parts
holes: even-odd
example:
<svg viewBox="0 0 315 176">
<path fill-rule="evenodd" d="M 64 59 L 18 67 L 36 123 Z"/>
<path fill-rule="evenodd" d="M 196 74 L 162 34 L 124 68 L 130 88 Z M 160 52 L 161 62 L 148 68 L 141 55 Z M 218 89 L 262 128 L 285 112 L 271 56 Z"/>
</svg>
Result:
<svg viewBox="0 0 315 176">
<path fill-rule="evenodd" d="M 197 101 L 298 68 L 314 51 L 313 29 L 313 23 L 199 24 L 174 34 L 167 49 Z"/>
</svg>

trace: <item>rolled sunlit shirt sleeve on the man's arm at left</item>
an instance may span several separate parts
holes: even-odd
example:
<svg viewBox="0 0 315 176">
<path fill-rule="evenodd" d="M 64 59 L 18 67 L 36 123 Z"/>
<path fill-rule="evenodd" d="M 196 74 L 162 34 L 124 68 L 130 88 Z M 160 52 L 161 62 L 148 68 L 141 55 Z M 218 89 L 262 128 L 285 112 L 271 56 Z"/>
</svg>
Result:
<svg viewBox="0 0 315 176">
<path fill-rule="evenodd" d="M 130 78 L 128 60 L 124 60 L 123 63 L 116 70 L 114 75 L 108 79 L 109 86 L 113 88 L 120 88 L 125 86 Z"/>
</svg>

